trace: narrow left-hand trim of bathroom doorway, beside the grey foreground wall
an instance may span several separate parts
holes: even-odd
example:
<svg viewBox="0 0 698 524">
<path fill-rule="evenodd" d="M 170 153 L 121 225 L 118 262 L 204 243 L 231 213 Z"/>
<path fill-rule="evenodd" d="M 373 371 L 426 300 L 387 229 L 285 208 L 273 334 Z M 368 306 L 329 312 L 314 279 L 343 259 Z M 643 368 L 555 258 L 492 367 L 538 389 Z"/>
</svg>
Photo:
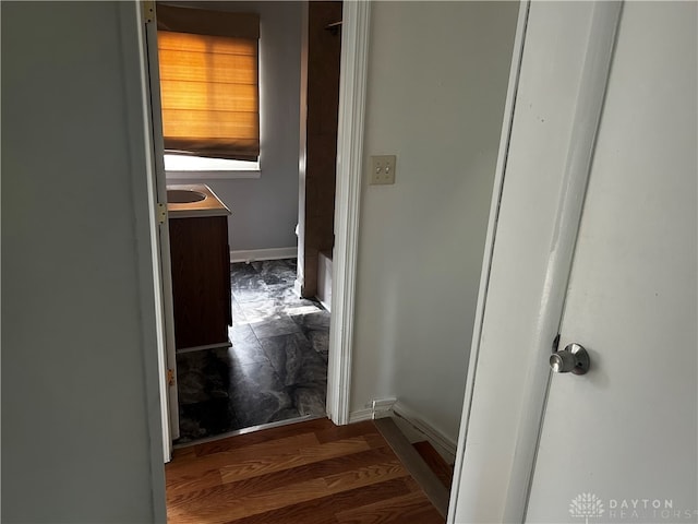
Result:
<svg viewBox="0 0 698 524">
<path fill-rule="evenodd" d="M 143 380 L 146 391 L 147 433 L 151 462 L 151 500 L 153 522 L 166 522 L 165 472 L 163 462 L 170 460 L 171 440 L 164 361 L 165 329 L 161 295 L 161 275 L 158 262 L 158 224 L 156 218 L 157 190 L 153 162 L 153 135 L 149 121 L 149 95 L 147 64 L 145 62 L 145 24 L 143 3 L 119 2 L 117 5 L 123 71 L 123 88 L 128 110 L 124 115 L 131 141 L 132 201 L 134 203 L 135 237 L 137 251 L 137 287 L 140 288 L 141 317 L 144 324 Z M 144 176 L 145 175 L 145 176 Z M 145 196 L 144 196 L 145 195 Z M 124 210 L 128 214 L 129 210 Z M 147 326 L 154 326 L 151 330 Z"/>
</svg>

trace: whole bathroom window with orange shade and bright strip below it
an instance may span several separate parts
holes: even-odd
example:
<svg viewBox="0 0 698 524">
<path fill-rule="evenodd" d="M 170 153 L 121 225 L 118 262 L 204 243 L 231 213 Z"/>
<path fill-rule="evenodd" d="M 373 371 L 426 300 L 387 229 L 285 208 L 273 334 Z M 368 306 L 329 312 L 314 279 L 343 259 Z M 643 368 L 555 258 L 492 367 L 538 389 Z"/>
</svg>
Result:
<svg viewBox="0 0 698 524">
<path fill-rule="evenodd" d="M 258 15 L 158 3 L 157 19 L 166 169 L 254 169 Z"/>
</svg>

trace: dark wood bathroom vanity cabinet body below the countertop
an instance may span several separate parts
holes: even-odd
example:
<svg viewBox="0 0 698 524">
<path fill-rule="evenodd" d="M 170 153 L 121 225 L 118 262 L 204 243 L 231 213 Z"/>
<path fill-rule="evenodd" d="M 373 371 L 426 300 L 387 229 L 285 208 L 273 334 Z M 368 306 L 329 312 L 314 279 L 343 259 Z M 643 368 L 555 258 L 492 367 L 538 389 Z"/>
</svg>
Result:
<svg viewBox="0 0 698 524">
<path fill-rule="evenodd" d="M 229 346 L 228 216 L 169 219 L 177 349 Z"/>
</svg>

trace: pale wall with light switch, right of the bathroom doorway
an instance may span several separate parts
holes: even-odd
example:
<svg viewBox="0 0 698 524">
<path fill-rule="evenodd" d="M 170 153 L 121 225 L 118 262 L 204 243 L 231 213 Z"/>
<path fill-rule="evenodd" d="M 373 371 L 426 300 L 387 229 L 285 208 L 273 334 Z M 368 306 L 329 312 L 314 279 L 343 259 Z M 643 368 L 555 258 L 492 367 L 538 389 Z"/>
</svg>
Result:
<svg viewBox="0 0 698 524">
<path fill-rule="evenodd" d="M 351 410 L 396 396 L 456 441 L 517 3 L 376 2 Z"/>
</svg>

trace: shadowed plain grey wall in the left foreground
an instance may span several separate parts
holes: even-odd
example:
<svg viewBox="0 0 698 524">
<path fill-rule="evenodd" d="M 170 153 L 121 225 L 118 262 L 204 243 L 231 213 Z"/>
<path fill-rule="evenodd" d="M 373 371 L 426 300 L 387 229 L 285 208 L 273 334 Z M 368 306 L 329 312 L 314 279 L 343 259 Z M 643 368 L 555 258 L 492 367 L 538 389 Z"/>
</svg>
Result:
<svg viewBox="0 0 698 524">
<path fill-rule="evenodd" d="M 135 13 L 2 2 L 3 522 L 165 521 Z"/>
</svg>

